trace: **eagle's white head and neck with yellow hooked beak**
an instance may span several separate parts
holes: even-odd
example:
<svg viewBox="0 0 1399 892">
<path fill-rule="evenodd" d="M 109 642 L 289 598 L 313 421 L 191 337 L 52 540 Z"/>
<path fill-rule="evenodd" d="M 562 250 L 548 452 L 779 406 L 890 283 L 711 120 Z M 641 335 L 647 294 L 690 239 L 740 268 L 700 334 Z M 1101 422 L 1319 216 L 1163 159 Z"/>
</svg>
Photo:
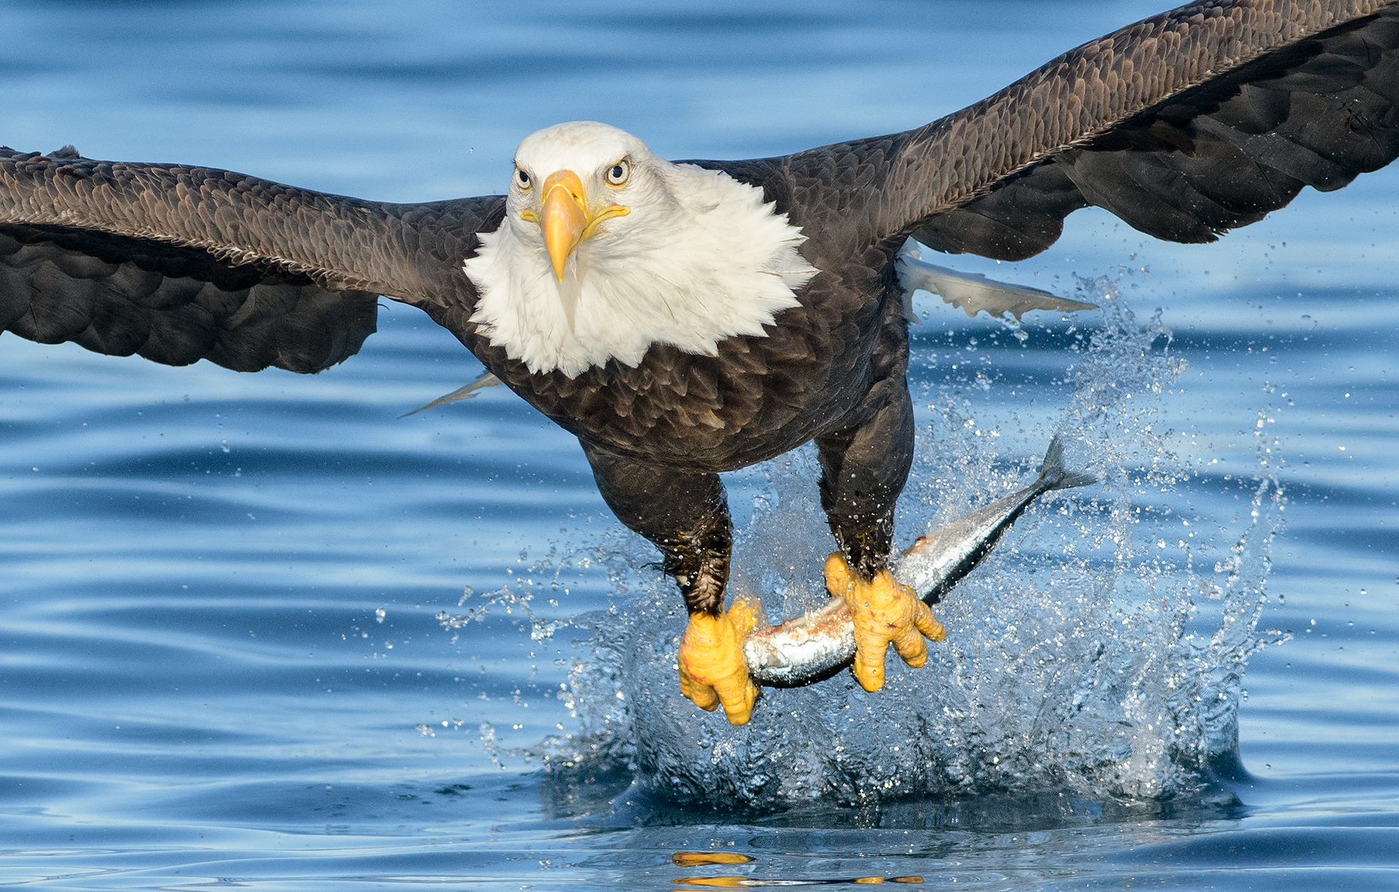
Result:
<svg viewBox="0 0 1399 892">
<path fill-rule="evenodd" d="M 797 306 L 803 240 L 761 189 L 617 127 L 555 124 L 520 143 L 505 220 L 463 264 L 471 322 L 536 373 L 634 366 L 655 343 L 713 355 Z"/>
</svg>

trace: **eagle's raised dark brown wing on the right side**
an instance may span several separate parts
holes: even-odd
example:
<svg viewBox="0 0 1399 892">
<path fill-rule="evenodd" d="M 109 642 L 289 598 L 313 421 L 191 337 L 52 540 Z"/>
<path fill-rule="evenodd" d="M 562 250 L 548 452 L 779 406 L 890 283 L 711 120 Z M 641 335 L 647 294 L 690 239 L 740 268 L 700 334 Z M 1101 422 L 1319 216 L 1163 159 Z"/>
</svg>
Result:
<svg viewBox="0 0 1399 892">
<path fill-rule="evenodd" d="M 834 259 L 912 235 L 999 260 L 1098 206 L 1212 242 L 1302 186 L 1399 155 L 1399 8 L 1213 0 L 1129 25 L 926 127 L 797 152 L 792 204 Z"/>
</svg>

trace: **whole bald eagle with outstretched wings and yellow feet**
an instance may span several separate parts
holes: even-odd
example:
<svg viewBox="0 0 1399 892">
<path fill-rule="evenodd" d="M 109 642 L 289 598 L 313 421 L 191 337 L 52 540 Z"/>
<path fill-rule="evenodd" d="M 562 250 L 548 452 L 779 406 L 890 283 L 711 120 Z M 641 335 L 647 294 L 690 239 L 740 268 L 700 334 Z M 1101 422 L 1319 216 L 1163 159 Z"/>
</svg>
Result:
<svg viewBox="0 0 1399 892">
<path fill-rule="evenodd" d="M 1213 0 L 923 127 L 779 158 L 669 162 L 616 127 L 558 124 L 520 143 L 502 196 L 390 204 L 0 148 L 0 331 L 319 372 L 360 350 L 379 295 L 421 308 L 578 436 L 684 598 L 683 692 L 741 724 L 755 617 L 725 608 L 720 471 L 816 443 L 825 580 L 865 688 L 890 645 L 921 666 L 942 633 L 888 570 L 914 439 L 908 239 L 1018 260 L 1097 206 L 1210 242 L 1389 164 L 1396 102 L 1399 6 Z"/>
</svg>

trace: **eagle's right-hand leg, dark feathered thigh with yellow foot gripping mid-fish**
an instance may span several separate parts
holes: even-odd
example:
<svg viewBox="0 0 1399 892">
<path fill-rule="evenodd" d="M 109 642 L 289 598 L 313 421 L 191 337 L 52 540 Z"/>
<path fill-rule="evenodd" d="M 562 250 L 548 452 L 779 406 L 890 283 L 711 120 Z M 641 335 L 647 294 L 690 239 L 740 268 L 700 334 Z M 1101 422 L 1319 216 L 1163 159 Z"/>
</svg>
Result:
<svg viewBox="0 0 1399 892">
<path fill-rule="evenodd" d="M 825 562 L 825 587 L 851 608 L 858 647 L 852 668 L 866 691 L 884 686 L 890 645 L 916 668 L 928 660 L 923 639 L 944 635 L 928 604 L 888 569 L 894 502 L 914 461 L 914 403 L 904 377 L 907 341 L 902 348 L 888 345 L 884 375 L 839 429 L 816 438 L 821 508 L 839 545 Z"/>
</svg>

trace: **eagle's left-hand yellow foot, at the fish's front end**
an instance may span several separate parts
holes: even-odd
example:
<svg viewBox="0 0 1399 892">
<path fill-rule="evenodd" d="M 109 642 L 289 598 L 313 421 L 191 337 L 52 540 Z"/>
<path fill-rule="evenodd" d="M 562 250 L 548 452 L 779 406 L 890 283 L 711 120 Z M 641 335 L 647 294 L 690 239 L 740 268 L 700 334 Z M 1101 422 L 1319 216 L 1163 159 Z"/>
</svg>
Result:
<svg viewBox="0 0 1399 892">
<path fill-rule="evenodd" d="M 747 724 L 758 686 L 748 679 L 743 639 L 758 625 L 758 605 L 739 598 L 718 617 L 690 615 L 680 639 L 680 693 L 704 710 L 720 703 L 730 724 Z"/>
</svg>

